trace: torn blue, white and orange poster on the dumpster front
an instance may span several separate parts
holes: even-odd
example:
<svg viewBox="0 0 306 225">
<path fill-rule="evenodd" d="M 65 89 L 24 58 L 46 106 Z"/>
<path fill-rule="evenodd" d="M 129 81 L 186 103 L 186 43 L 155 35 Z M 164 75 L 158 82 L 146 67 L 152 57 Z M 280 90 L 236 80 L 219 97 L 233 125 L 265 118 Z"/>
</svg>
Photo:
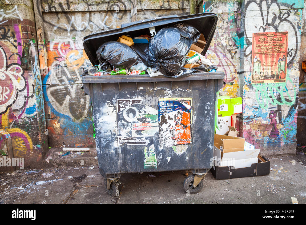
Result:
<svg viewBox="0 0 306 225">
<path fill-rule="evenodd" d="M 162 146 L 191 144 L 192 98 L 159 99 L 158 115 Z"/>
</svg>

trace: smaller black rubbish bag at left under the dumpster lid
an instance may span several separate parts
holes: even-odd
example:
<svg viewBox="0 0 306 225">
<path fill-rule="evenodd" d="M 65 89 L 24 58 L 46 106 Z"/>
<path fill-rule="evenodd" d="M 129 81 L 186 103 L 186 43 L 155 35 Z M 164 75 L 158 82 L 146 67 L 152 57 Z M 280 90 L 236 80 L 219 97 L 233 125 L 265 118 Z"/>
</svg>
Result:
<svg viewBox="0 0 306 225">
<path fill-rule="evenodd" d="M 129 69 L 137 60 L 137 54 L 126 44 L 117 41 L 108 41 L 97 50 L 100 67 L 103 70 L 113 65 L 119 69 Z"/>
</svg>

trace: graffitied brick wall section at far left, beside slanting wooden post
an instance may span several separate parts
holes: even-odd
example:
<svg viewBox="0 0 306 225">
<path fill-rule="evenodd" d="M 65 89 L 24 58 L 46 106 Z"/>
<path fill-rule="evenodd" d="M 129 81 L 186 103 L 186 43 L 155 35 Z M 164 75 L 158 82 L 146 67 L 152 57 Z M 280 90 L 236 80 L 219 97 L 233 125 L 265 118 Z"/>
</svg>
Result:
<svg viewBox="0 0 306 225">
<path fill-rule="evenodd" d="M 41 164 L 47 147 L 33 14 L 32 5 L 0 8 L 1 129 L 12 139 L 9 157 L 24 158 L 25 167 Z"/>
</svg>

